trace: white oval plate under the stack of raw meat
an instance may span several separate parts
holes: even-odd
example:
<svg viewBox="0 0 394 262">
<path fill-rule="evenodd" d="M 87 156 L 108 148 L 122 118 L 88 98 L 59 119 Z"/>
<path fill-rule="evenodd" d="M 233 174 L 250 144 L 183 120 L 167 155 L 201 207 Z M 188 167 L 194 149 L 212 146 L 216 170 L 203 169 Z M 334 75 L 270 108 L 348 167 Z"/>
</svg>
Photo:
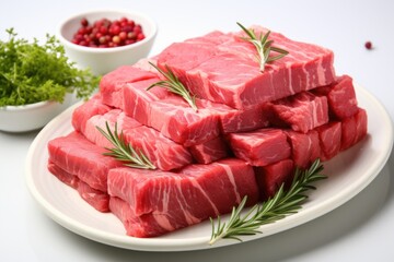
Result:
<svg viewBox="0 0 394 262">
<path fill-rule="evenodd" d="M 328 179 L 310 192 L 309 201 L 297 214 L 260 227 L 263 234 L 242 237 L 244 241 L 266 237 L 299 226 L 344 204 L 364 189 L 385 165 L 393 146 L 393 126 L 384 107 L 364 88 L 356 88 L 360 107 L 368 112 L 368 136 L 352 148 L 324 164 Z M 26 181 L 34 199 L 49 217 L 69 230 L 89 239 L 132 250 L 181 251 L 208 249 L 237 243 L 220 240 L 213 246 L 209 222 L 158 238 L 126 236 L 120 221 L 113 214 L 95 211 L 78 192 L 60 182 L 46 168 L 47 142 L 72 130 L 69 108 L 49 122 L 32 143 L 26 158 Z M 223 219 L 227 217 L 223 216 Z"/>
</svg>

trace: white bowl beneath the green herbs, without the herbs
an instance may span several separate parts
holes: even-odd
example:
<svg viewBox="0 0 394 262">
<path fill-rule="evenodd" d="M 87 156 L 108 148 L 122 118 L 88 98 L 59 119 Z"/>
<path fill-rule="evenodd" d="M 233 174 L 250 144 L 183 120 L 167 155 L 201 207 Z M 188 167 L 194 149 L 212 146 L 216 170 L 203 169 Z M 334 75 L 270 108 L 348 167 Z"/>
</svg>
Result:
<svg viewBox="0 0 394 262">
<path fill-rule="evenodd" d="M 19 133 L 37 130 L 68 108 L 73 96 L 68 94 L 63 103 L 38 102 L 23 106 L 0 107 L 0 131 Z"/>
</svg>

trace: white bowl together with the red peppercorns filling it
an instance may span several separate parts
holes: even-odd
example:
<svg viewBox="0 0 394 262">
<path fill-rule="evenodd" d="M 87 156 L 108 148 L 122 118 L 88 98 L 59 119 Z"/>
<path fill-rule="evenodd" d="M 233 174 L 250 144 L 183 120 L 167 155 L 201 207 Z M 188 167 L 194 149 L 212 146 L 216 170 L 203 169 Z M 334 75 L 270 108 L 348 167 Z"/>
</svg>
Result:
<svg viewBox="0 0 394 262">
<path fill-rule="evenodd" d="M 155 22 L 142 13 L 105 10 L 67 19 L 59 26 L 58 37 L 78 67 L 105 74 L 146 58 L 157 32 Z"/>
</svg>

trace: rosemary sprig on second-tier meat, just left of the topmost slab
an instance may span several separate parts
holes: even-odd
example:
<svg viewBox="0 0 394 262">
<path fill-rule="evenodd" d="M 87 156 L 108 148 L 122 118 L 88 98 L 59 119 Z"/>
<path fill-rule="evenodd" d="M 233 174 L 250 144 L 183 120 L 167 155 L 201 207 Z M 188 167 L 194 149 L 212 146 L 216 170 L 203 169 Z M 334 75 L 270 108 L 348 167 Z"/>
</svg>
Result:
<svg viewBox="0 0 394 262">
<path fill-rule="evenodd" d="M 152 62 L 149 62 L 152 67 L 154 67 L 166 80 L 158 81 L 157 83 L 151 84 L 147 91 L 154 86 L 161 86 L 166 88 L 167 91 L 182 96 L 189 105 L 190 107 L 197 111 L 197 105 L 196 105 L 196 97 L 192 96 L 189 91 L 181 83 L 178 78 L 174 74 L 174 72 L 165 64 L 165 70 L 161 70 L 158 66 L 153 64 Z"/>
</svg>

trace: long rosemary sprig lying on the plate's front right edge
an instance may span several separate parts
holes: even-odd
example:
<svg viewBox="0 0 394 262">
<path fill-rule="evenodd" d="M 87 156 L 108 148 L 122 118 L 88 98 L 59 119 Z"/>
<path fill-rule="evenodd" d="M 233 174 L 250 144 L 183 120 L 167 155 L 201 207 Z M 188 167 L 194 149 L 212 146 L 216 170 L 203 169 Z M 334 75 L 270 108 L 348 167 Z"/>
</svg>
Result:
<svg viewBox="0 0 394 262">
<path fill-rule="evenodd" d="M 297 213 L 302 207 L 301 203 L 308 198 L 304 192 L 315 189 L 311 183 L 326 178 L 321 174 L 323 168 L 320 159 L 316 159 L 306 170 L 297 168 L 289 190 L 285 191 L 282 184 L 273 198 L 262 204 L 255 204 L 244 216 L 241 213 L 244 210 L 247 196 L 243 198 L 237 207 L 233 207 L 227 223 L 222 223 L 218 216 L 218 225 L 215 226 L 216 223 L 210 218 L 212 234 L 209 243 L 213 245 L 224 238 L 242 241 L 240 236 L 260 234 L 262 231 L 258 228 L 262 225 L 275 223 Z"/>
</svg>

